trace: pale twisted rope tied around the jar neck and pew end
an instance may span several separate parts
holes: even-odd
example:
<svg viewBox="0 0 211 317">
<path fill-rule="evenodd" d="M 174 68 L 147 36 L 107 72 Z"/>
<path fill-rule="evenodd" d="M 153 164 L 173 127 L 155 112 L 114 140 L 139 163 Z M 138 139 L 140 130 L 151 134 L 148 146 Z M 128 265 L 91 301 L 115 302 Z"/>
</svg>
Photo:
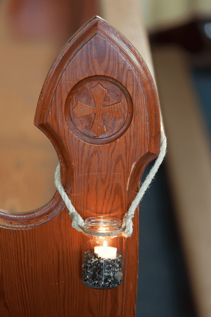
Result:
<svg viewBox="0 0 211 317">
<path fill-rule="evenodd" d="M 105 232 L 105 233 L 96 233 L 96 232 L 90 232 L 89 230 L 86 230 L 84 227 L 84 220 L 83 218 L 78 214 L 78 212 L 75 210 L 74 206 L 71 203 L 70 198 L 67 196 L 64 187 L 61 184 L 61 175 L 60 175 L 60 163 L 57 165 L 54 179 L 55 179 L 55 185 L 57 190 L 59 191 L 59 194 L 61 195 L 67 209 L 69 210 L 68 214 L 72 221 L 72 227 L 75 228 L 78 231 L 83 231 L 84 233 L 91 234 L 93 236 L 113 236 L 115 234 L 119 234 L 120 232 L 123 232 L 123 235 L 125 237 L 129 237 L 132 235 L 133 232 L 133 217 L 134 212 L 136 210 L 136 207 L 142 200 L 144 193 L 146 192 L 147 188 L 149 187 L 150 183 L 152 182 L 152 179 L 154 178 L 156 172 L 158 171 L 159 166 L 161 165 L 164 156 L 166 154 L 166 136 L 164 133 L 163 124 L 161 121 L 161 145 L 160 145 L 160 153 L 158 155 L 158 158 L 156 159 L 154 165 L 152 166 L 151 170 L 149 171 L 149 174 L 146 176 L 146 179 L 144 183 L 141 185 L 139 192 L 137 193 L 135 199 L 133 200 L 128 212 L 125 214 L 123 218 L 122 227 L 119 230 L 116 230 L 115 232 Z"/>
</svg>

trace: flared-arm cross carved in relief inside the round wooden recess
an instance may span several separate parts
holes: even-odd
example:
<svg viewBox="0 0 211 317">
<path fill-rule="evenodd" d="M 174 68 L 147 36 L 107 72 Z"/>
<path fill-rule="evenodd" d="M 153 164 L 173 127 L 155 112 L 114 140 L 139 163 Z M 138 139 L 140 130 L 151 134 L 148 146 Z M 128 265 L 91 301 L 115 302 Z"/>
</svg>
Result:
<svg viewBox="0 0 211 317">
<path fill-rule="evenodd" d="M 90 88 L 90 91 L 95 100 L 95 106 L 89 106 L 78 101 L 73 111 L 78 119 L 87 114 L 95 114 L 91 131 L 99 136 L 103 132 L 107 131 L 102 115 L 106 114 L 108 116 L 120 119 L 125 110 L 123 109 L 121 102 L 117 102 L 108 106 L 102 105 L 108 90 L 103 88 L 99 83 L 95 87 Z"/>
</svg>

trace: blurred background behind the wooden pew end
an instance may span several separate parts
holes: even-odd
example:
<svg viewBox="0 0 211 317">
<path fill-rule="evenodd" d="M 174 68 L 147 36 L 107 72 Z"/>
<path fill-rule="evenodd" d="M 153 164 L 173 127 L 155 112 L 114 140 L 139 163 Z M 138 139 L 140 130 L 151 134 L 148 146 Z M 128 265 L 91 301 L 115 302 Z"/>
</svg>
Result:
<svg viewBox="0 0 211 317">
<path fill-rule="evenodd" d="M 140 204 L 136 316 L 210 317 L 210 0 L 1 1 L 0 207 L 26 212 L 53 197 L 58 158 L 35 109 L 60 49 L 94 15 L 146 61 L 168 141 Z"/>
</svg>

